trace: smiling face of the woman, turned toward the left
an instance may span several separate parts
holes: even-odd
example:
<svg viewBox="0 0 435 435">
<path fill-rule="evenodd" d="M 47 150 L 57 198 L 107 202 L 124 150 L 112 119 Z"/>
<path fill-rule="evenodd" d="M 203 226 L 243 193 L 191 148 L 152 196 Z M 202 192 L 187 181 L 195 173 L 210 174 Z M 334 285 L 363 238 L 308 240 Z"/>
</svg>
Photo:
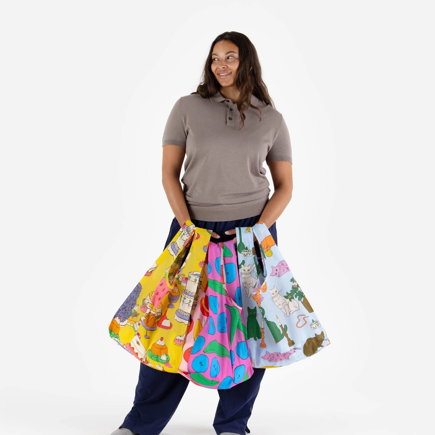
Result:
<svg viewBox="0 0 435 435">
<path fill-rule="evenodd" d="M 233 86 L 236 83 L 238 66 L 239 49 L 237 45 L 228 40 L 214 44 L 211 54 L 211 71 L 221 86 Z"/>
</svg>

